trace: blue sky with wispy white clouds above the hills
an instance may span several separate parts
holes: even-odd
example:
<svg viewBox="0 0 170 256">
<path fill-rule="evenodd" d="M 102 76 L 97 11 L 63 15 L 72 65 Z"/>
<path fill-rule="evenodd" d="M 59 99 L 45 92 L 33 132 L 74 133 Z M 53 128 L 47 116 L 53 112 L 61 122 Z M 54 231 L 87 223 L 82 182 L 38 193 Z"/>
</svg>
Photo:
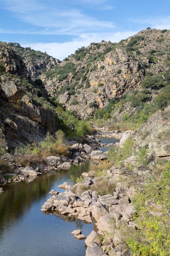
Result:
<svg viewBox="0 0 170 256">
<path fill-rule="evenodd" d="M 91 42 L 170 29 L 170 0 L 0 0 L 0 40 L 62 60 Z"/>
</svg>

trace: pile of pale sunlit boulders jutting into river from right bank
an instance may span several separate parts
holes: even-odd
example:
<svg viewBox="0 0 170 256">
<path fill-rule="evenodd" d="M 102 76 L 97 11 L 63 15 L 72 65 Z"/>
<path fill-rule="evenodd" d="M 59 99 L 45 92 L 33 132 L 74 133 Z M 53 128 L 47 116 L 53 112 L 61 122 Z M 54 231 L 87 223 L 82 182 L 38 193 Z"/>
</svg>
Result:
<svg viewBox="0 0 170 256">
<path fill-rule="evenodd" d="M 86 180 L 95 182 L 95 179 L 88 177 L 87 173 L 83 173 L 84 185 L 87 191 L 81 195 L 76 195 L 71 190 L 66 190 L 63 193 L 51 191 L 51 198 L 47 200 L 42 206 L 42 211 L 57 211 L 62 215 L 74 216 L 85 222 L 92 222 L 95 219 L 97 233 L 93 231 L 90 237 L 87 237 L 86 256 L 105 255 L 106 245 L 100 246 L 97 235 L 106 236 L 110 232 L 110 219 L 114 220 L 113 237 L 108 238 L 107 247 L 110 248 L 113 255 L 126 255 L 122 253 L 123 244 L 121 244 L 121 231 L 119 225 L 127 225 L 129 227 L 136 227 L 133 221 L 133 215 L 136 212 L 132 206 L 131 199 L 135 196 L 136 187 L 144 186 L 146 176 L 151 174 L 151 170 L 144 167 L 139 167 L 137 172 L 128 170 L 128 168 L 112 167 L 108 170 L 108 182 L 115 182 L 116 187 L 113 194 L 97 195 L 96 191 L 92 191 L 89 185 L 86 185 Z M 126 180 L 126 185 L 122 180 Z M 129 184 L 128 184 L 129 180 Z M 63 188 L 67 188 L 68 184 L 62 184 Z M 114 248 L 114 249 L 113 249 Z M 111 255 L 111 254 L 110 254 Z M 127 254 L 128 255 L 128 254 Z"/>
</svg>

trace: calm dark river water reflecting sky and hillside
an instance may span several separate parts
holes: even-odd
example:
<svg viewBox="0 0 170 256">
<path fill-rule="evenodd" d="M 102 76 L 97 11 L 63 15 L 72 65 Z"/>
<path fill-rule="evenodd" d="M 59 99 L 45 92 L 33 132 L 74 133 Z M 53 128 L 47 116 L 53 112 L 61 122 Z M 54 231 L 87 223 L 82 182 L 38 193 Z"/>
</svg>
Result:
<svg viewBox="0 0 170 256">
<path fill-rule="evenodd" d="M 115 143 L 119 140 L 101 138 L 101 141 Z M 51 189 L 64 191 L 57 186 L 68 181 L 71 175 L 79 177 L 96 164 L 92 160 L 78 166 L 73 164 L 69 170 L 44 173 L 31 183 L 3 186 L 5 192 L 0 195 L 0 256 L 85 256 L 84 240 L 76 240 L 71 232 L 82 229 L 82 234 L 88 236 L 93 223 L 85 224 L 57 212 L 45 214 L 40 209 L 50 198 Z"/>
</svg>

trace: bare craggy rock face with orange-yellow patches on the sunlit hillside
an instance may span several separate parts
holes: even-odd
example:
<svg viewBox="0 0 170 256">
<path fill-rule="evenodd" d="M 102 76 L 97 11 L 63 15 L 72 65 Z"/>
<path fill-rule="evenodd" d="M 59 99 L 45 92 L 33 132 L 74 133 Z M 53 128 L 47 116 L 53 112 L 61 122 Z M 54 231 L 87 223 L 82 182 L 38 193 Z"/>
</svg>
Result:
<svg viewBox="0 0 170 256">
<path fill-rule="evenodd" d="M 78 63 L 77 65 L 79 67 Z M 103 70 L 100 69 L 101 66 L 104 66 Z M 73 96 L 68 91 L 59 96 L 60 103 L 64 104 L 67 109 L 72 110 L 81 118 L 93 115 L 95 108 L 106 107 L 110 99 L 114 96 L 121 97 L 123 91 L 137 87 L 144 78 L 143 70 L 139 68 L 139 61 L 134 61 L 123 49 L 116 48 L 108 52 L 104 61 L 98 61 L 95 67 L 97 69 L 94 72 L 93 66 L 88 73 L 86 72 L 89 88 L 81 86 L 81 94 L 78 95 L 76 104 L 72 104 Z M 83 69 L 84 67 L 80 67 L 80 71 Z M 121 73 L 117 74 L 117 70 L 121 70 Z M 77 74 L 78 72 L 77 70 Z M 43 79 L 44 76 L 42 77 Z M 52 83 L 49 79 L 43 81 L 46 83 L 46 90 L 52 96 L 57 93 L 58 88 L 63 87 L 63 81 L 59 82 L 57 78 L 53 78 Z M 64 83 L 70 84 L 73 81 L 74 78 L 70 82 L 68 77 L 64 80 Z M 80 79 L 79 84 L 83 85 L 83 83 L 84 81 Z M 99 87 L 98 84 L 102 84 L 102 86 Z M 83 95 L 86 95 L 85 99 L 83 99 Z M 94 102 L 94 106 L 89 108 L 86 102 Z"/>
</svg>

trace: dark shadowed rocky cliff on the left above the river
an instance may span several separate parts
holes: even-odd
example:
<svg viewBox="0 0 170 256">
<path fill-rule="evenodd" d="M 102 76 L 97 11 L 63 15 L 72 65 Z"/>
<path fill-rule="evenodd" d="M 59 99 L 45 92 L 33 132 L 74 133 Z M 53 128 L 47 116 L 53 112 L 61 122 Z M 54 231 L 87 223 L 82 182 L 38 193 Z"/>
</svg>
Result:
<svg viewBox="0 0 170 256">
<path fill-rule="evenodd" d="M 47 131 L 57 130 L 57 113 L 36 101 L 39 96 L 47 97 L 48 92 L 40 80 L 30 79 L 29 73 L 31 71 L 33 74 L 33 69 L 29 68 L 28 59 L 24 63 L 23 58 L 16 53 L 15 47 L 6 43 L 0 43 L 0 46 L 1 142 L 8 148 L 40 142 Z M 50 63 L 49 59 L 47 68 Z"/>
</svg>

